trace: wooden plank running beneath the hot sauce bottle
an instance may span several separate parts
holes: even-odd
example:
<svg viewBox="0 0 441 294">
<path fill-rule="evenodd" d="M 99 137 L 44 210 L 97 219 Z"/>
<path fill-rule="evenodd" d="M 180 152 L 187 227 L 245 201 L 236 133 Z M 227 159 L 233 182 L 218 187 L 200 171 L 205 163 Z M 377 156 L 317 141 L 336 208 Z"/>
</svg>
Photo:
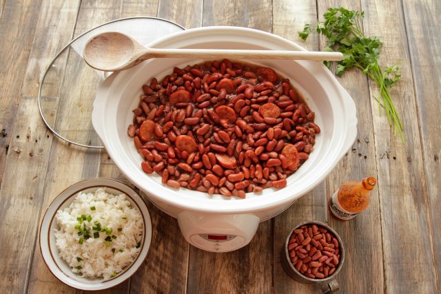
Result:
<svg viewBox="0 0 441 294">
<path fill-rule="evenodd" d="M 329 7 L 345 7 L 349 10 L 360 10 L 360 3 L 354 1 L 320 1 L 318 15 L 322 15 Z M 369 20 L 370 21 L 370 20 Z M 325 40 L 320 39 L 320 49 L 325 47 Z M 369 83 L 367 76 L 359 70 L 351 70 L 338 78 L 343 87 L 351 94 L 356 103 L 358 136 L 351 150 L 340 161 L 338 166 L 327 178 L 328 198 L 348 180 L 361 180 L 367 176 L 377 177 L 376 149 L 373 143 L 372 112 L 378 107 L 371 107 Z M 327 210 L 329 215 L 329 210 Z M 384 278 L 382 267 L 382 244 L 380 226 L 380 202 L 378 189 L 371 192 L 369 209 L 349 222 L 342 222 L 328 217 L 329 226 L 333 227 L 345 242 L 347 262 L 340 271 L 337 281 L 342 292 L 382 293 Z M 356 236 L 356 237 L 354 237 Z M 356 251 L 351 250 L 356 248 Z M 363 273 L 360 275 L 360 273 Z M 356 278 L 354 278 L 356 277 Z"/>
</svg>

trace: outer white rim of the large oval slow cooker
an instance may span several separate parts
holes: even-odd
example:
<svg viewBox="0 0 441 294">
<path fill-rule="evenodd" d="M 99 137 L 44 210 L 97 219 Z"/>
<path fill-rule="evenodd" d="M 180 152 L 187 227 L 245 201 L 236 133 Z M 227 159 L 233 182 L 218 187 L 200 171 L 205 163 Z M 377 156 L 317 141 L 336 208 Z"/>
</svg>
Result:
<svg viewBox="0 0 441 294">
<path fill-rule="evenodd" d="M 289 41 L 287 39 L 284 39 L 280 36 L 277 36 L 275 34 L 270 34 L 268 32 L 263 32 L 260 30 L 254 30 L 254 29 L 250 29 L 250 28 L 240 28 L 240 27 L 232 27 L 232 26 L 216 26 L 216 27 L 203 27 L 203 28 L 194 28 L 194 29 L 190 29 L 190 30 L 185 30 L 182 32 L 176 32 L 174 34 L 170 34 L 167 36 L 164 36 L 161 39 L 158 39 L 152 43 L 150 43 L 151 47 L 155 47 L 157 45 L 164 45 L 167 44 L 167 42 L 173 41 L 173 42 L 178 42 L 179 39 L 183 39 L 185 38 L 185 36 L 187 36 L 188 34 L 190 34 L 190 36 L 192 36 L 192 34 L 195 33 L 199 33 L 199 36 L 201 34 L 209 34 L 209 33 L 214 33 L 214 32 L 223 32 L 223 33 L 231 33 L 231 32 L 242 32 L 242 33 L 252 33 L 253 36 L 257 36 L 262 38 L 263 36 L 269 37 L 271 39 L 276 39 L 277 41 L 280 41 L 281 43 L 285 43 L 286 45 L 290 45 L 291 48 L 296 48 L 296 50 L 305 50 L 305 48 L 302 48 L 300 45 Z M 194 36 L 193 36 L 194 37 Z M 149 61 L 147 61 L 148 63 Z M 300 62 L 305 62 L 305 61 L 299 61 Z M 339 95 L 342 97 L 342 107 L 347 109 L 351 109 L 353 110 L 353 112 L 351 114 L 346 114 L 347 116 L 347 130 L 351 131 L 351 132 L 347 132 L 345 133 L 345 138 L 343 138 L 342 141 L 340 141 L 338 143 L 338 145 L 334 146 L 337 147 L 338 150 L 340 150 L 338 152 L 338 154 L 334 154 L 335 156 L 335 160 L 333 162 L 327 162 L 327 167 L 326 167 L 326 171 L 323 172 L 320 177 L 316 178 L 316 182 L 314 182 L 314 185 L 304 185 L 301 187 L 301 189 L 299 189 L 298 191 L 296 191 L 295 194 L 291 194 L 290 196 L 283 196 L 282 199 L 279 199 L 278 201 L 274 201 L 274 200 L 269 200 L 271 197 L 269 196 L 265 196 L 266 200 L 261 200 L 261 201 L 256 201 L 254 199 L 249 199 L 249 198 L 245 198 L 245 199 L 240 199 L 238 202 L 235 203 L 235 205 L 230 204 L 226 204 L 227 202 L 229 202 L 230 200 L 223 200 L 223 202 L 225 202 L 225 205 L 220 204 L 219 200 L 212 200 L 212 199 L 207 199 L 207 198 L 201 198 L 200 200 L 196 200 L 194 202 L 187 202 L 185 201 L 185 199 L 179 199 L 178 197 L 171 199 L 167 196 L 163 196 L 167 193 L 173 193 L 173 195 L 175 195 L 176 193 L 178 193 L 178 190 L 174 190 L 174 189 L 170 189 L 169 187 L 165 187 L 164 185 L 161 185 L 161 187 L 154 187 L 154 189 L 147 189 L 142 185 L 142 182 L 139 181 L 139 179 L 137 179 L 135 176 L 132 176 L 130 174 L 130 170 L 127 171 L 121 167 L 123 167 L 123 165 L 125 165 L 124 162 L 119 162 L 119 160 L 117 160 L 118 154 L 116 154 L 116 151 L 114 149 L 112 149 L 112 145 L 114 145 L 114 143 L 112 142 L 112 140 L 107 141 L 107 134 L 106 131 L 102 131 L 100 125 L 102 124 L 102 118 L 103 116 L 99 115 L 99 110 L 97 110 L 98 103 L 97 100 L 95 99 L 94 101 L 94 110 L 92 111 L 92 123 L 94 125 L 94 128 L 96 129 L 97 134 L 99 134 L 101 140 L 103 141 L 103 145 L 105 146 L 105 148 L 107 149 L 107 152 L 110 154 L 110 156 L 114 159 L 115 164 L 119 167 L 119 169 L 121 170 L 121 172 L 124 174 L 124 176 L 130 180 L 130 182 L 132 182 L 136 187 L 139 187 L 141 189 L 147 189 L 145 190 L 145 192 L 147 193 L 147 196 L 154 198 L 155 200 L 164 202 L 165 204 L 169 204 L 172 205 L 173 207 L 179 207 L 181 209 L 186 209 L 186 210 L 190 210 L 190 211 L 201 211 L 201 212 L 209 212 L 209 213 L 248 213 L 248 212 L 256 212 L 256 211 L 264 211 L 267 209 L 271 209 L 274 207 L 278 207 L 280 205 L 283 204 L 287 204 L 287 203 L 291 203 L 294 200 L 296 200 L 297 198 L 299 198 L 300 196 L 304 195 L 305 193 L 307 193 L 308 191 L 310 191 L 311 189 L 313 189 L 316 185 L 319 185 L 320 182 L 329 174 L 329 172 L 334 169 L 334 167 L 337 165 L 337 163 L 340 161 L 340 159 L 342 158 L 342 156 L 347 152 L 347 149 L 349 149 L 349 147 L 351 147 L 351 145 L 353 144 L 354 140 L 356 139 L 356 125 L 357 125 L 357 118 L 356 118 L 356 108 L 355 108 L 355 103 L 353 103 L 353 100 L 351 98 L 351 96 L 349 96 L 349 94 L 347 93 L 347 91 L 342 87 L 342 85 L 340 85 L 340 83 L 338 83 L 336 77 L 334 76 L 334 74 L 332 74 L 326 67 L 325 65 L 322 65 L 322 63 L 320 62 L 314 62 L 314 61 L 307 61 L 309 63 L 311 63 L 311 66 L 314 67 L 314 69 L 319 68 L 320 70 L 323 70 L 323 74 L 326 78 L 329 79 L 329 81 L 331 81 L 331 86 L 334 87 L 334 89 L 336 90 L 336 92 L 339 93 Z M 145 64 L 145 63 L 144 63 Z M 117 80 L 120 75 L 125 75 L 127 73 L 130 74 L 136 74 L 137 72 L 141 71 L 141 69 L 143 65 L 138 65 L 137 67 L 133 67 L 131 70 L 127 70 L 125 72 L 116 72 L 112 75 L 110 75 L 107 80 L 103 83 L 103 85 L 106 85 L 106 87 L 108 87 L 109 85 L 112 85 L 112 82 Z M 121 81 L 118 81 L 121 82 Z M 117 83 L 116 83 L 117 84 Z M 100 93 L 100 91 L 102 91 Z M 99 88 L 99 90 L 97 91 L 97 95 L 96 97 L 98 97 L 99 95 L 105 95 L 107 94 L 105 92 L 105 89 L 102 89 L 101 87 Z M 103 105 L 101 105 L 103 106 Z M 342 152 L 344 151 L 344 152 Z M 159 185 L 158 185 L 159 186 Z M 287 189 L 289 187 L 285 187 L 283 189 L 279 189 L 277 191 L 274 191 L 272 194 L 276 194 L 278 196 L 282 195 L 283 193 L 287 193 Z M 176 194 L 177 196 L 177 194 Z"/>
</svg>

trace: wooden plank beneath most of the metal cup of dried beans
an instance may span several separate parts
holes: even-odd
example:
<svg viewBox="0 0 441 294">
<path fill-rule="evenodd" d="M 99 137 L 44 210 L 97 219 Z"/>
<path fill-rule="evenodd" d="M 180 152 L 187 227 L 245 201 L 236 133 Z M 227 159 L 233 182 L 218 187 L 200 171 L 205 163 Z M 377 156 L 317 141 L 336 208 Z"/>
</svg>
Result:
<svg viewBox="0 0 441 294">
<path fill-rule="evenodd" d="M 317 21 L 316 1 L 274 1 L 273 32 L 307 48 L 318 50 L 318 36 L 311 35 L 305 43 L 299 36 L 305 23 Z M 300 284 L 289 277 L 280 263 L 280 252 L 287 235 L 296 224 L 306 220 L 326 220 L 326 183 L 322 182 L 313 191 L 297 200 L 284 213 L 274 218 L 274 293 L 318 293 L 311 284 Z"/>
</svg>

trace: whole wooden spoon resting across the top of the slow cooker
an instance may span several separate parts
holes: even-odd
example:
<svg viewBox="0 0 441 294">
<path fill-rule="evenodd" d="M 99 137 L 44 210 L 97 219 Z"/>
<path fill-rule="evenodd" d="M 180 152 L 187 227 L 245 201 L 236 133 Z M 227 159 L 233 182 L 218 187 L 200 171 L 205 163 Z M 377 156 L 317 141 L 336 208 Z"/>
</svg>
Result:
<svg viewBox="0 0 441 294">
<path fill-rule="evenodd" d="M 146 48 L 120 32 L 103 32 L 86 43 L 83 57 L 85 62 L 96 70 L 116 72 L 128 70 L 147 59 L 165 57 L 340 61 L 343 54 L 285 50 L 156 49 Z"/>
</svg>

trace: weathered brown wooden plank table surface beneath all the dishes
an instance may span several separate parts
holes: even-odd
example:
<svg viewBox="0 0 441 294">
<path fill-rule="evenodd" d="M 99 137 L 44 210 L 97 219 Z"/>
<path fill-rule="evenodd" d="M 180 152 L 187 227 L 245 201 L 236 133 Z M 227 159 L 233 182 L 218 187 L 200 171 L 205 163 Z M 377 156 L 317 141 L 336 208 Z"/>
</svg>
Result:
<svg viewBox="0 0 441 294">
<path fill-rule="evenodd" d="M 364 10 L 367 35 L 384 41 L 382 62 L 402 67 L 393 101 L 404 122 L 404 145 L 378 112 L 378 87 L 359 71 L 341 78 L 357 105 L 358 136 L 325 181 L 287 211 L 260 224 L 245 248 L 208 253 L 185 242 L 174 218 L 149 204 L 154 238 L 141 269 L 110 293 L 317 293 L 291 280 L 279 252 L 298 222 L 327 222 L 347 248 L 338 275 L 341 293 L 440 293 L 441 286 L 441 13 L 439 0 L 0 0 L 0 291 L 74 293 L 47 269 L 39 224 L 57 194 L 85 178 L 123 179 L 105 151 L 63 143 L 39 116 L 39 80 L 54 55 L 74 36 L 121 17 L 157 16 L 185 28 L 237 25 L 272 32 L 309 50 L 297 31 L 322 19 L 329 7 Z M 71 138 L 90 127 L 90 72 L 72 74 L 73 56 L 61 58 L 45 111 Z M 57 80 L 58 78 L 58 80 Z M 73 91 L 73 92 L 72 92 Z M 86 97 L 76 105 L 66 92 Z M 92 93 L 89 94 L 88 93 Z M 81 98 L 80 97 L 80 98 Z M 89 100 L 88 100 L 89 99 Z M 75 109 L 75 112 L 72 112 Z M 329 216 L 327 198 L 347 180 L 378 178 L 369 208 L 356 219 Z"/>
</svg>

